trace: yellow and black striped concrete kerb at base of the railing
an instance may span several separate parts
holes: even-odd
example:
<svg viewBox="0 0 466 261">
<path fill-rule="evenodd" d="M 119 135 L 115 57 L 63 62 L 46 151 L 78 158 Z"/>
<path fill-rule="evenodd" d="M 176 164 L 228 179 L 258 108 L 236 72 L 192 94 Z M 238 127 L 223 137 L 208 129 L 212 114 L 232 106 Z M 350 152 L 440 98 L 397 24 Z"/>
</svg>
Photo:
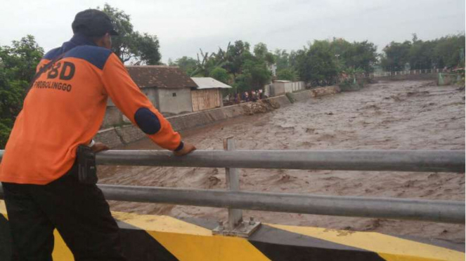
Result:
<svg viewBox="0 0 466 261">
<path fill-rule="evenodd" d="M 0 201 L 0 260 L 9 260 L 11 239 L 4 201 Z M 128 260 L 465 260 L 464 250 L 443 243 L 401 239 L 374 232 L 264 224 L 249 239 L 214 236 L 216 222 L 112 213 L 121 228 Z M 73 260 L 55 232 L 54 260 Z"/>
</svg>

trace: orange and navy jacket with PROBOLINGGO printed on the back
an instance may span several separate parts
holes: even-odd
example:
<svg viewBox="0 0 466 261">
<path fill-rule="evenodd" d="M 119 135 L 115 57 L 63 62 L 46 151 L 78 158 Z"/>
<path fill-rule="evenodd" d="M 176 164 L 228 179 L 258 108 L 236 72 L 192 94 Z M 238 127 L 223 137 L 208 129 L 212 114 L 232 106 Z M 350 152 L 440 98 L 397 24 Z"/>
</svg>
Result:
<svg viewBox="0 0 466 261">
<path fill-rule="evenodd" d="M 77 146 L 89 144 L 98 132 L 109 97 L 157 145 L 183 148 L 179 133 L 112 51 L 75 34 L 46 53 L 37 70 L 63 53 L 25 98 L 0 163 L 1 182 L 46 185 L 67 173 Z"/>
</svg>

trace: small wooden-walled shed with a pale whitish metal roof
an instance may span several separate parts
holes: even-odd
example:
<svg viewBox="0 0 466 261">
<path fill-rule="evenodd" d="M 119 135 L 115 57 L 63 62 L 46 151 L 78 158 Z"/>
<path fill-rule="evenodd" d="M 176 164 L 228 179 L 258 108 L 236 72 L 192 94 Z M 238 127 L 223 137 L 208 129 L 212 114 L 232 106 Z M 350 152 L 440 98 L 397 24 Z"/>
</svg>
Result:
<svg viewBox="0 0 466 261">
<path fill-rule="evenodd" d="M 211 77 L 192 77 L 191 79 L 198 85 L 191 91 L 193 112 L 224 106 L 221 90 L 231 88 L 231 86 Z"/>
</svg>

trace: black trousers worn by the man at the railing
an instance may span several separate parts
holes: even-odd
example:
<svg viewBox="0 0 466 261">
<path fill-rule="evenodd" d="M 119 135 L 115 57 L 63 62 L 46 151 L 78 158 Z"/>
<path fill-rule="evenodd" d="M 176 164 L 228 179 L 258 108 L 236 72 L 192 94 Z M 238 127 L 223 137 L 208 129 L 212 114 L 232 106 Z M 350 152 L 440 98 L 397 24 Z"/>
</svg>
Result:
<svg viewBox="0 0 466 261">
<path fill-rule="evenodd" d="M 52 260 L 55 228 L 76 261 L 126 260 L 101 189 L 80 184 L 75 167 L 48 185 L 2 185 L 13 261 Z"/>
</svg>

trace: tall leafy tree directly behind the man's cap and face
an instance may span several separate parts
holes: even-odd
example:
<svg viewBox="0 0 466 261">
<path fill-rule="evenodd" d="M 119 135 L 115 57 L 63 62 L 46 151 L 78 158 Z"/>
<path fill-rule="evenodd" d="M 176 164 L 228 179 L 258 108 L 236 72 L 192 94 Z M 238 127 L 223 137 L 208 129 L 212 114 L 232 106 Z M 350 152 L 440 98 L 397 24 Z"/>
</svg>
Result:
<svg viewBox="0 0 466 261">
<path fill-rule="evenodd" d="M 97 8 L 110 16 L 119 33 L 118 36 L 112 36 L 112 51 L 122 62 L 131 61 L 138 65 L 160 64 L 160 45 L 157 36 L 134 31 L 130 15 L 124 11 L 113 8 L 109 4 L 104 4 L 103 8 Z"/>
</svg>

